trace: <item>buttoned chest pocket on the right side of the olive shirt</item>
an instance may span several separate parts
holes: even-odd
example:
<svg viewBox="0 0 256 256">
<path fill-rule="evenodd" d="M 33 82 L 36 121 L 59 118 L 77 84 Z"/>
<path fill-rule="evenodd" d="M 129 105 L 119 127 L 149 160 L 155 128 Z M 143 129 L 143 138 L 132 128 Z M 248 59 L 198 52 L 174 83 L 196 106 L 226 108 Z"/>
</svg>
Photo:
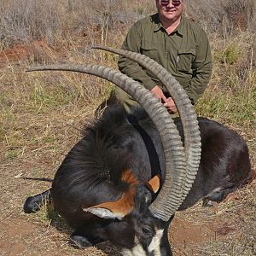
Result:
<svg viewBox="0 0 256 256">
<path fill-rule="evenodd" d="M 195 49 L 177 50 L 177 70 L 191 72 L 192 62 L 195 61 Z"/>
</svg>

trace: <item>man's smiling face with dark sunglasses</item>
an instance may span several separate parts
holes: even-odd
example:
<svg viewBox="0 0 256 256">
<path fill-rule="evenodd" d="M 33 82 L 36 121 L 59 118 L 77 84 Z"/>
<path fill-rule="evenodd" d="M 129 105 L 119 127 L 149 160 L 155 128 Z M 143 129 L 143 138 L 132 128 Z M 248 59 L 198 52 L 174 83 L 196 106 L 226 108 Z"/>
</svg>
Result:
<svg viewBox="0 0 256 256">
<path fill-rule="evenodd" d="M 177 20 L 183 12 L 183 0 L 155 0 L 161 20 Z"/>
</svg>

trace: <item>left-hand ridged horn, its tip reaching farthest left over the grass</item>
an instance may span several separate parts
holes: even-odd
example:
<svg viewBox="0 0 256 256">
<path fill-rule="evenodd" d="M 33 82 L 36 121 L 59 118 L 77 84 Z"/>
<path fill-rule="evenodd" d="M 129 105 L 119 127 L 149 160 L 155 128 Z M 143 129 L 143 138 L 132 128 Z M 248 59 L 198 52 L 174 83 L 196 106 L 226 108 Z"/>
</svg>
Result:
<svg viewBox="0 0 256 256">
<path fill-rule="evenodd" d="M 180 199 L 177 197 L 177 195 L 182 195 L 179 173 L 183 172 L 185 156 L 183 153 L 183 143 L 181 142 L 176 125 L 174 125 L 173 120 L 170 119 L 166 108 L 164 108 L 163 105 L 153 96 L 153 94 L 149 90 L 145 89 L 142 84 L 139 84 L 133 79 L 127 77 L 125 74 L 108 67 L 98 65 L 83 66 L 62 64 L 33 67 L 27 71 L 40 70 L 61 70 L 88 73 L 101 77 L 102 79 L 108 79 L 113 84 L 116 84 L 121 89 L 125 90 L 145 109 L 148 116 L 154 122 L 156 129 L 160 133 L 160 138 L 166 156 L 166 170 L 168 170 L 168 172 L 166 172 L 166 180 L 163 188 L 160 190 L 160 194 L 162 193 L 163 195 L 169 195 L 171 198 L 170 201 L 161 202 L 161 207 L 165 208 L 166 211 L 154 212 L 154 215 L 157 218 L 167 221 L 175 212 L 177 204 L 179 204 Z M 171 170 L 175 170 L 175 172 L 171 172 Z M 161 198 L 164 197 L 161 195 Z"/>
</svg>

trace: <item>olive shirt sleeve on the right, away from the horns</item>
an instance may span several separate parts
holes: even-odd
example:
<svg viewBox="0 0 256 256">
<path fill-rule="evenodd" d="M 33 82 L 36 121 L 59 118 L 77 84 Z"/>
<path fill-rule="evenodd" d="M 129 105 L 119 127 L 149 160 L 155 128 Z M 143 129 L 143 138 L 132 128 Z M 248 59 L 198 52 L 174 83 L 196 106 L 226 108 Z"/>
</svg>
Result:
<svg viewBox="0 0 256 256">
<path fill-rule="evenodd" d="M 212 75 L 212 54 L 207 34 L 203 30 L 198 36 L 192 70 L 192 79 L 186 91 L 192 103 L 195 104 L 206 90 Z"/>
</svg>

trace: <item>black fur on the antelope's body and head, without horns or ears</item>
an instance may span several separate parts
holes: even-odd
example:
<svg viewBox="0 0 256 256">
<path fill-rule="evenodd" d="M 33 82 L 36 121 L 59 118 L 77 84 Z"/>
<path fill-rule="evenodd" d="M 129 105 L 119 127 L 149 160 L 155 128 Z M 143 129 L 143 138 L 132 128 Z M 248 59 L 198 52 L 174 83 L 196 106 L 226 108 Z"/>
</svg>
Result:
<svg viewBox="0 0 256 256">
<path fill-rule="evenodd" d="M 131 117 L 130 117 L 131 119 Z M 143 112 L 135 112 L 133 120 L 154 144 L 158 159 L 157 172 L 165 177 L 165 162 L 160 137 L 154 125 Z M 201 165 L 195 183 L 179 210 L 194 205 L 200 199 L 222 201 L 234 189 L 247 183 L 252 177 L 245 141 L 235 132 L 209 119 L 199 118 L 201 130 Z M 183 137 L 182 125 L 175 119 Z M 145 139 L 145 138 L 144 138 Z M 149 142 L 148 142 L 149 143 Z M 148 211 L 152 195 L 144 185 L 151 177 L 153 161 L 149 160 L 147 142 L 138 129 L 127 119 L 122 108 L 107 108 L 102 118 L 85 127 L 83 138 L 67 154 L 55 174 L 52 198 L 55 210 L 71 224 L 75 231 L 71 236 L 81 247 L 110 240 L 119 247 L 134 247 L 135 236 L 146 252 L 155 235 L 163 229 L 162 255 L 172 255 L 165 223 Z M 152 156 L 151 156 L 152 158 Z M 106 201 L 116 201 L 129 189 L 122 182 L 122 172 L 131 169 L 140 182 L 135 196 L 135 209 L 122 220 L 103 219 L 85 213 L 82 207 L 91 207 Z M 36 197 L 38 199 L 38 197 Z M 32 204 L 24 209 L 34 212 Z M 154 253 L 148 252 L 148 256 Z"/>
</svg>

